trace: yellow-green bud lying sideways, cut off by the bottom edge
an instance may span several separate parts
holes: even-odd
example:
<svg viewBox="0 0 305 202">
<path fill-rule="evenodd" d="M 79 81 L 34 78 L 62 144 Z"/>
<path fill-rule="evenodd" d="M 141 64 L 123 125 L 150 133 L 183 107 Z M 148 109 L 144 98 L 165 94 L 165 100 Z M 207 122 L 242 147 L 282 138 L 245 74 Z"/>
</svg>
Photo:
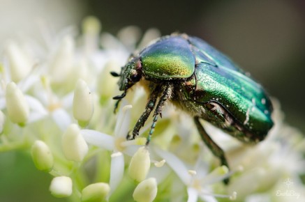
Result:
<svg viewBox="0 0 305 202">
<path fill-rule="evenodd" d="M 88 185 L 82 189 L 83 202 L 101 202 L 110 192 L 110 186 L 104 182 Z"/>
</svg>

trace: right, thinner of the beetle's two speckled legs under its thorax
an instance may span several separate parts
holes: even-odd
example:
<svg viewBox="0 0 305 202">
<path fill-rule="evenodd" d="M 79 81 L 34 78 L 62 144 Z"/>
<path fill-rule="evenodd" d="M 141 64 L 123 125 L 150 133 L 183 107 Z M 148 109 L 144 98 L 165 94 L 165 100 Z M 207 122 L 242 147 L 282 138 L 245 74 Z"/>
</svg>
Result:
<svg viewBox="0 0 305 202">
<path fill-rule="evenodd" d="M 172 86 L 168 85 L 168 86 L 165 87 L 165 90 L 163 91 L 163 93 L 161 95 L 161 98 L 158 102 L 156 110 L 154 111 L 154 120 L 153 120 L 153 123 L 151 124 L 151 129 L 149 130 L 146 145 L 148 145 L 149 141 L 151 140 L 151 134 L 153 134 L 154 129 L 156 127 L 156 122 L 158 121 L 158 115 L 162 116 L 161 115 L 162 108 L 165 104 L 165 101 L 168 100 L 168 98 L 170 98 L 170 95 L 172 95 Z"/>
</svg>

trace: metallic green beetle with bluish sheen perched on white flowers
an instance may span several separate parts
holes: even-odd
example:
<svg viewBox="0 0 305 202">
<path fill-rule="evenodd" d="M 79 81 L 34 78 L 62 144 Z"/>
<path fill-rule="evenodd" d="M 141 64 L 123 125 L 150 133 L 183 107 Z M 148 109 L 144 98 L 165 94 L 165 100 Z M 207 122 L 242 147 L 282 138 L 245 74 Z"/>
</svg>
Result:
<svg viewBox="0 0 305 202">
<path fill-rule="evenodd" d="M 245 143 L 262 141 L 273 126 L 272 105 L 262 86 L 200 38 L 164 36 L 131 56 L 120 74 L 111 74 L 119 77 L 119 90 L 124 91 L 113 98 L 118 100 L 115 108 L 138 81 L 150 92 L 144 113 L 128 139 L 137 137 L 157 100 L 147 144 L 165 101 L 170 100 L 193 117 L 202 140 L 225 166 L 228 162 L 223 150 L 205 132 L 200 118 Z"/>
</svg>

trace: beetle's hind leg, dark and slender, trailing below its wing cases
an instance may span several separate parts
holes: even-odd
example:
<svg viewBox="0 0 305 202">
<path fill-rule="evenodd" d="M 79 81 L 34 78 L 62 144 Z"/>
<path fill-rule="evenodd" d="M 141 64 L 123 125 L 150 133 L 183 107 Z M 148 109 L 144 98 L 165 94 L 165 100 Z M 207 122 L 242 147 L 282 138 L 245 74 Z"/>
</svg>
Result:
<svg viewBox="0 0 305 202">
<path fill-rule="evenodd" d="M 225 159 L 225 153 L 223 152 L 222 148 L 220 148 L 214 141 L 209 137 L 209 134 L 204 130 L 204 127 L 201 125 L 199 121 L 199 117 L 194 117 L 195 125 L 198 129 L 200 137 L 202 141 L 207 145 L 207 147 L 211 150 L 211 152 L 221 160 L 221 164 L 227 166 L 229 168 L 229 164 Z M 225 184 L 228 184 L 229 179 L 224 180 Z"/>
</svg>

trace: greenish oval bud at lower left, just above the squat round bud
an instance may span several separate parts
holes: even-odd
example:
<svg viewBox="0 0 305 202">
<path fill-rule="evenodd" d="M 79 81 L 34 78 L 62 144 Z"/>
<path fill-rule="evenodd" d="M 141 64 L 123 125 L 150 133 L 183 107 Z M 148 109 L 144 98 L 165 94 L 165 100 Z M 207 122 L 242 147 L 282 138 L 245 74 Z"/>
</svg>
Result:
<svg viewBox="0 0 305 202">
<path fill-rule="evenodd" d="M 40 171 L 52 170 L 54 159 L 50 148 L 43 141 L 37 140 L 31 148 L 31 155 L 36 168 Z"/>
</svg>

